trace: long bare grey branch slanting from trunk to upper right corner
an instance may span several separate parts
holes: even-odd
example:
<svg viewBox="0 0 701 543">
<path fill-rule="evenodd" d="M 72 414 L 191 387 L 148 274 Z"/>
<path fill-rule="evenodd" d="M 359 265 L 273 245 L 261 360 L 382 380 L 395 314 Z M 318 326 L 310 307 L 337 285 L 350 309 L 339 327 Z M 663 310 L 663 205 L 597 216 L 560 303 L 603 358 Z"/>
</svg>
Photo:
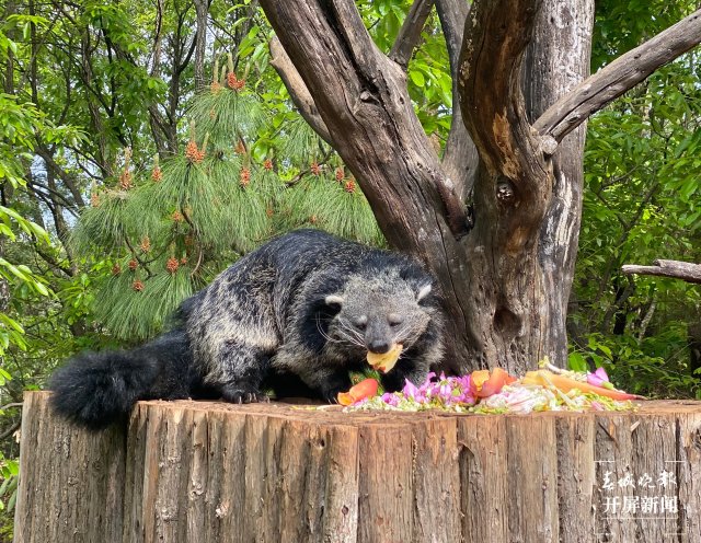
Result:
<svg viewBox="0 0 701 543">
<path fill-rule="evenodd" d="M 701 10 L 660 32 L 643 45 L 621 55 L 606 68 L 585 79 L 550 106 L 533 127 L 544 137 L 562 141 L 584 123 L 659 67 L 701 43 Z"/>
</svg>

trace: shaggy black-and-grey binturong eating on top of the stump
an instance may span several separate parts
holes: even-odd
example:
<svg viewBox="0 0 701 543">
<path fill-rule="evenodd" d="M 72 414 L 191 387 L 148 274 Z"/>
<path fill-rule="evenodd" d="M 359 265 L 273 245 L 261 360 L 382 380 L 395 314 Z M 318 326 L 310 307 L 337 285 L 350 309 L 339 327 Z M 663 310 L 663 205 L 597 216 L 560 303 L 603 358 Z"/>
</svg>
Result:
<svg viewBox="0 0 701 543">
<path fill-rule="evenodd" d="M 185 300 L 172 330 L 131 350 L 83 353 L 50 380 L 54 408 L 92 429 L 138 400 L 334 402 L 371 362 L 387 391 L 443 356 L 434 278 L 412 258 L 298 230 L 249 253 Z M 383 373 L 382 373 L 383 372 Z"/>
</svg>

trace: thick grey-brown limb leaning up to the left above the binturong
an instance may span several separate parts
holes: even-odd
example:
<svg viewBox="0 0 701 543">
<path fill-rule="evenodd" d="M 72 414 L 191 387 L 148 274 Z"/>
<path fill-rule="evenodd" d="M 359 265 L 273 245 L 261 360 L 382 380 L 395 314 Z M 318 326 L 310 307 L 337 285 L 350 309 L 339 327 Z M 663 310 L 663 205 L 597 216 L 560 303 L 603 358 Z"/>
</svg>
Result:
<svg viewBox="0 0 701 543">
<path fill-rule="evenodd" d="M 261 5 L 303 83 L 292 89 L 306 88 L 313 96 L 308 104 L 315 105 L 333 147 L 360 182 L 388 241 L 416 252 L 427 238 L 439 242 L 427 199 L 432 209 L 443 207 L 453 235 L 464 233 L 464 206 L 418 123 L 406 74 L 377 48 L 355 2 L 262 0 Z M 416 217 L 426 223 L 415 224 Z"/>
</svg>

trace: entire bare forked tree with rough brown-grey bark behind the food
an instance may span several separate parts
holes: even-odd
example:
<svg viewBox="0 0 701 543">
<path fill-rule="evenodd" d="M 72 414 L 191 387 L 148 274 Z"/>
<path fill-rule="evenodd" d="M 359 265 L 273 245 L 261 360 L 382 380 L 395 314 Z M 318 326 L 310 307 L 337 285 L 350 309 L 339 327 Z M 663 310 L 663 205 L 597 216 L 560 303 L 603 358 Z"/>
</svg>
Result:
<svg viewBox="0 0 701 543">
<path fill-rule="evenodd" d="M 582 125 L 701 42 L 699 13 L 585 79 L 593 0 L 478 0 L 469 13 L 463 0 L 436 0 L 460 105 L 441 160 L 413 112 L 403 62 L 377 48 L 353 1 L 261 4 L 281 45 L 275 66 L 295 81 L 300 111 L 323 126 L 390 245 L 437 276 L 448 369 L 522 372 L 544 356 L 563 365 Z M 425 4 L 416 0 L 414 11 Z"/>
</svg>

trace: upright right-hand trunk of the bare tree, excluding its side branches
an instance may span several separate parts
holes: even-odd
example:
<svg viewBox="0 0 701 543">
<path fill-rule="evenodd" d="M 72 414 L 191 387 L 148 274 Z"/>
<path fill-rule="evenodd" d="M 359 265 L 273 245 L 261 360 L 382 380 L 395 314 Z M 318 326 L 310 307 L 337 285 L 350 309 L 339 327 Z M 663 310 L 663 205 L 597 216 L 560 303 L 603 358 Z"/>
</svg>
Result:
<svg viewBox="0 0 701 543">
<path fill-rule="evenodd" d="M 475 358 L 517 373 L 544 357 L 566 362 L 585 127 L 552 154 L 530 125 L 588 76 L 594 22 L 593 0 L 540 3 L 475 4 L 461 71 L 463 116 L 482 159 L 468 240 L 466 275 L 475 292 L 468 326 Z M 508 26 L 497 15 L 506 9 Z"/>
</svg>

